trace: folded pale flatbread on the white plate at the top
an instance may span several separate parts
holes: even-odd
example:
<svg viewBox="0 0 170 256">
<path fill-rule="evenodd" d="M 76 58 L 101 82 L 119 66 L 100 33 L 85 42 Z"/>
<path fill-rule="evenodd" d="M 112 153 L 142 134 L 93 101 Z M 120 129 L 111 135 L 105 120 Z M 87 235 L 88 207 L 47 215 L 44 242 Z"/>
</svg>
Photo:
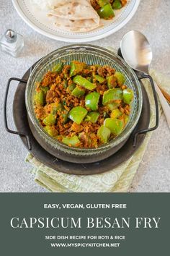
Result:
<svg viewBox="0 0 170 256">
<path fill-rule="evenodd" d="M 90 0 L 32 0 L 63 30 L 88 32 L 100 26 L 100 18 Z"/>
</svg>

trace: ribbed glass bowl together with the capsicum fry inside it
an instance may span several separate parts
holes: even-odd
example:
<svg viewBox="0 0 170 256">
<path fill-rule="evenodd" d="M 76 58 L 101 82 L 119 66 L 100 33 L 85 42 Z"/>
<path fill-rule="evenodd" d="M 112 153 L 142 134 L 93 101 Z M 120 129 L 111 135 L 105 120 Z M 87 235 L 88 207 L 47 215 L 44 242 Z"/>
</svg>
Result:
<svg viewBox="0 0 170 256">
<path fill-rule="evenodd" d="M 112 51 L 71 45 L 37 63 L 25 101 L 42 147 L 65 161 L 90 163 L 128 140 L 140 117 L 142 93 L 138 77 Z"/>
</svg>

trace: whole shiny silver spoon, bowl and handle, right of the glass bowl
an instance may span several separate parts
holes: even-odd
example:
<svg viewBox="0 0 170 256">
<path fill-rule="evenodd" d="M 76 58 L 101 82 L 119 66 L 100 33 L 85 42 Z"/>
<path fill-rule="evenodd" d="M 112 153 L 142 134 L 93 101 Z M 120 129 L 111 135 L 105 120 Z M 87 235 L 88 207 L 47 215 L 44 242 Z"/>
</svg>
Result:
<svg viewBox="0 0 170 256">
<path fill-rule="evenodd" d="M 123 59 L 125 59 L 130 67 L 145 74 L 149 73 L 148 69 L 153 54 L 145 35 L 137 30 L 129 31 L 123 36 L 120 42 L 120 51 Z M 160 88 L 156 85 L 156 82 L 154 82 L 154 85 L 170 128 L 170 106 L 164 98 L 163 93 L 161 93 Z"/>
</svg>

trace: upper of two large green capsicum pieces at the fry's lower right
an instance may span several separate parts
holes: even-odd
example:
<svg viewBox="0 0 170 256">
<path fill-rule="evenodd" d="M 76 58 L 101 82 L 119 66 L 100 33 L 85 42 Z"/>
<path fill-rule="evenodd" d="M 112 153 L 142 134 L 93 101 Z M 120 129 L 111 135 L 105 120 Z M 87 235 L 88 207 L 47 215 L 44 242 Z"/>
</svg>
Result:
<svg viewBox="0 0 170 256">
<path fill-rule="evenodd" d="M 114 135 L 120 135 L 124 128 L 124 122 L 120 119 L 107 118 L 104 120 L 104 127 L 107 127 Z"/>
</svg>

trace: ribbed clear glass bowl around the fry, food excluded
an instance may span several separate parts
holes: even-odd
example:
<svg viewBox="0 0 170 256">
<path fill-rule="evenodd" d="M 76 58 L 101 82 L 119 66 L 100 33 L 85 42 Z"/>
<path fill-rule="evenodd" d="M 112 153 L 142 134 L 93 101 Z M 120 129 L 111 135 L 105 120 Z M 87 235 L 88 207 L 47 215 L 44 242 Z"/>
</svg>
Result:
<svg viewBox="0 0 170 256">
<path fill-rule="evenodd" d="M 109 141 L 107 144 L 100 145 L 98 148 L 74 148 L 63 144 L 62 142 L 59 142 L 55 138 L 50 137 L 50 135 L 45 132 L 45 129 L 43 129 L 35 116 L 35 82 L 40 82 L 44 74 L 49 70 L 52 70 L 55 64 L 61 63 L 61 61 L 64 61 L 64 64 L 70 64 L 73 60 L 82 61 L 90 65 L 108 65 L 109 67 L 115 68 L 116 71 L 122 72 L 122 74 L 125 75 L 125 85 L 127 85 L 128 88 L 132 89 L 134 93 L 133 103 L 131 104 L 130 119 L 125 129 L 120 135 L 115 137 L 115 139 Z M 38 141 L 43 141 L 43 147 L 45 144 L 47 144 L 48 148 L 52 148 L 53 155 L 55 155 L 56 150 L 56 155 L 58 155 L 58 151 L 61 151 L 61 155 L 73 155 L 74 159 L 79 158 L 80 156 L 86 159 L 90 156 L 94 159 L 98 159 L 97 155 L 100 155 L 99 158 L 100 160 L 102 160 L 111 155 L 113 152 L 115 153 L 115 151 L 120 148 L 119 145 L 122 146 L 124 142 L 128 140 L 128 137 L 133 132 L 133 129 L 135 128 L 140 118 L 143 97 L 140 82 L 135 72 L 133 72 L 133 69 L 131 69 L 128 64 L 126 64 L 125 61 L 123 61 L 119 56 L 117 56 L 117 54 L 99 46 L 92 46 L 89 44 L 74 44 L 70 46 L 64 46 L 62 48 L 59 48 L 58 50 L 51 52 L 36 64 L 27 82 L 25 103 L 27 108 L 27 114 L 30 122 L 32 123 L 32 127 L 35 127 L 36 136 L 39 137 Z M 106 154 L 107 151 L 110 152 L 109 155 Z M 58 158 L 60 158 L 60 155 L 58 155 Z M 63 159 L 64 157 L 61 156 L 61 158 Z M 66 158 L 64 158 L 64 160 L 66 160 Z M 71 161 L 71 158 L 69 158 L 69 161 Z"/>
</svg>

